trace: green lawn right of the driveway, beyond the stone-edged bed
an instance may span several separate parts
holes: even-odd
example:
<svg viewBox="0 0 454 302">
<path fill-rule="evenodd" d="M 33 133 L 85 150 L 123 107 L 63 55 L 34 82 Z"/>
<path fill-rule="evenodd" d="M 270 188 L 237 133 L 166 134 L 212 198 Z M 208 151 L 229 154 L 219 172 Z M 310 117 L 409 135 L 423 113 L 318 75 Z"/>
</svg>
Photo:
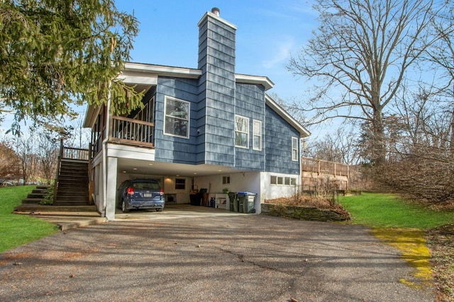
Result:
<svg viewBox="0 0 454 302">
<path fill-rule="evenodd" d="M 434 211 L 405 202 L 394 194 L 362 193 L 343 196 L 339 202 L 353 223 L 387 228 L 436 228 L 454 222 L 453 211 Z"/>
</svg>

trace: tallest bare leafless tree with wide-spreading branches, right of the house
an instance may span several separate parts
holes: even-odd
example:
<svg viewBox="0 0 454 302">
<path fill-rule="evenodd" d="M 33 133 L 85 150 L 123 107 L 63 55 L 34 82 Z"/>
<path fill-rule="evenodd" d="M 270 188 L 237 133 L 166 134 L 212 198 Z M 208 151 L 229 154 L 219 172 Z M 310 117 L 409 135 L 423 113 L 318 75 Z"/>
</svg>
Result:
<svg viewBox="0 0 454 302">
<path fill-rule="evenodd" d="M 372 163 L 384 163 L 386 108 L 406 72 L 439 38 L 431 25 L 444 7 L 433 1 L 316 0 L 321 25 L 287 67 L 317 84 L 307 107 L 295 107 L 313 112 L 314 124 L 336 117 L 366 122 Z"/>
</svg>

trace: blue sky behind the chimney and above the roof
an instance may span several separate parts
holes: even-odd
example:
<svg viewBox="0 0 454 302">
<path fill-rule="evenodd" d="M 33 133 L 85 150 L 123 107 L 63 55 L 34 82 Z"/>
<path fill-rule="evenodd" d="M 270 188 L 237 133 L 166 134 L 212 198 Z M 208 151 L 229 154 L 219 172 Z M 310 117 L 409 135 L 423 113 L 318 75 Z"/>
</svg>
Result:
<svg viewBox="0 0 454 302">
<path fill-rule="evenodd" d="M 217 7 L 221 18 L 238 27 L 236 73 L 267 76 L 268 93 L 279 98 L 304 99 L 307 86 L 285 69 L 316 29 L 316 13 L 306 0 L 116 0 L 119 11 L 134 13 L 140 22 L 131 62 L 197 67 L 199 23 Z M 83 118 L 85 108 L 76 110 Z M 6 116 L 1 128 L 11 125 Z M 73 122 L 74 124 L 74 122 Z M 312 131 L 312 129 L 309 129 Z M 313 132 L 313 137 L 316 133 Z"/>
</svg>

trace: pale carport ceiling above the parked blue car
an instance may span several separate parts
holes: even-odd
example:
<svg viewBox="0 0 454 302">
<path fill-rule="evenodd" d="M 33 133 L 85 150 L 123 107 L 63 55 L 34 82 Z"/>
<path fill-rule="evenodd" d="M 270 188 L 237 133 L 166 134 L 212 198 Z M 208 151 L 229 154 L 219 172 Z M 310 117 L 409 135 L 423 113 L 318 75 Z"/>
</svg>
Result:
<svg viewBox="0 0 454 302">
<path fill-rule="evenodd" d="M 161 163 L 118 158 L 118 173 L 163 176 L 206 176 L 238 173 L 239 170 L 223 165 L 185 165 L 182 163 Z"/>
</svg>

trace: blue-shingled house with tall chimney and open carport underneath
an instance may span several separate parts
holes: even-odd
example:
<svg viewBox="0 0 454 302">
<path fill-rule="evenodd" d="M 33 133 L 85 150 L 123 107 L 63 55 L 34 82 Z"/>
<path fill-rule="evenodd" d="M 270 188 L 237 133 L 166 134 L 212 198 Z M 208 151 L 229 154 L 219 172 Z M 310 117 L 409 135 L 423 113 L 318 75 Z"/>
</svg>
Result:
<svg viewBox="0 0 454 302">
<path fill-rule="evenodd" d="M 120 75 L 143 91 L 143 110 L 109 114 L 89 106 L 92 129 L 92 196 L 107 219 L 115 218 L 123 180 L 157 179 L 166 202 L 189 203 L 202 188 L 216 207 L 226 192 L 253 192 L 260 203 L 294 194 L 301 182 L 299 142 L 309 132 L 266 91 L 266 76 L 235 73 L 236 25 L 214 8 L 199 25 L 196 69 L 128 63 Z"/>
</svg>

